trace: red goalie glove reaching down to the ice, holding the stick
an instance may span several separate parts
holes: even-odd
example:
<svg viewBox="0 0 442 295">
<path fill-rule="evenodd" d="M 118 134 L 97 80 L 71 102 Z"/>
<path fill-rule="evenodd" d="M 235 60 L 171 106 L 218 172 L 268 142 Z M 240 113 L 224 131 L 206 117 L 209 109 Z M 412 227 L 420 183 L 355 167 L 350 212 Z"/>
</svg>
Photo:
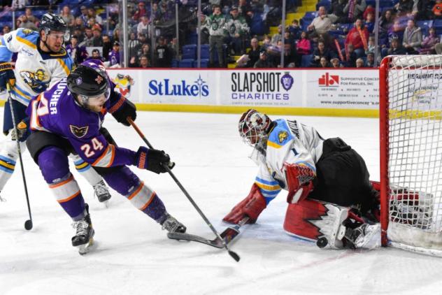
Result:
<svg viewBox="0 0 442 295">
<path fill-rule="evenodd" d="M 233 224 L 238 224 L 244 217 L 248 216 L 247 223 L 255 223 L 259 214 L 266 208 L 266 199 L 262 196 L 259 187 L 254 183 L 248 196 L 238 203 L 229 214 L 222 220 Z"/>
</svg>

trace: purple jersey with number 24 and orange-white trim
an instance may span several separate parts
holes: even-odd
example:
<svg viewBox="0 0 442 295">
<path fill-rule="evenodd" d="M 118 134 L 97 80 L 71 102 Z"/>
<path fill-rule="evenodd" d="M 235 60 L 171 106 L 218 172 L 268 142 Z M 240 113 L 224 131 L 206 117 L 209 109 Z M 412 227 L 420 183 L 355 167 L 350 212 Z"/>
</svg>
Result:
<svg viewBox="0 0 442 295">
<path fill-rule="evenodd" d="M 101 113 L 95 113 L 76 102 L 66 78 L 60 80 L 29 103 L 27 115 L 31 118 L 31 131 L 47 131 L 66 138 L 78 155 L 92 166 L 133 165 L 136 152 L 108 143 L 99 131 L 111 106 L 124 99 L 114 88 L 110 82 L 110 99 Z"/>
</svg>

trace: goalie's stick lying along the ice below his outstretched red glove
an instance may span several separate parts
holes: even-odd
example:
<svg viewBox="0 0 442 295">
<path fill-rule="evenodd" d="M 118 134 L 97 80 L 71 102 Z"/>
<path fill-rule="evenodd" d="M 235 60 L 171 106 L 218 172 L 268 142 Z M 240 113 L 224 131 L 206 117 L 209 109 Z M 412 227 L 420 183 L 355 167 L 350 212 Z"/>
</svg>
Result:
<svg viewBox="0 0 442 295">
<path fill-rule="evenodd" d="M 244 217 L 238 224 L 234 226 L 229 226 L 227 229 L 224 229 L 220 234 L 221 238 L 224 240 L 225 244 L 231 243 L 236 236 L 238 236 L 239 228 L 246 224 L 249 220 L 249 217 Z M 223 240 L 216 237 L 213 240 L 209 240 L 207 238 L 203 238 L 201 236 L 192 235 L 190 233 L 167 233 L 167 237 L 173 240 L 193 240 L 194 242 L 203 243 L 216 248 L 223 248 L 224 243 Z"/>
</svg>

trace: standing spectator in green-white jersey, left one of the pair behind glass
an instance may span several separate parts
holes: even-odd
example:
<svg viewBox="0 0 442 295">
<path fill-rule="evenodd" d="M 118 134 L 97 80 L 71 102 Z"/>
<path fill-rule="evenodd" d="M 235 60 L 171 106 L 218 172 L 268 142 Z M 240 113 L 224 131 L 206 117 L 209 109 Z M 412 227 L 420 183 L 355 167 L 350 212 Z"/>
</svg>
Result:
<svg viewBox="0 0 442 295">
<path fill-rule="evenodd" d="M 213 7 L 213 14 L 207 18 L 207 26 L 209 32 L 208 43 L 210 46 L 211 65 L 215 66 L 213 62 L 213 55 L 215 50 L 218 54 L 218 63 L 222 68 L 224 67 L 224 54 L 222 52 L 222 44 L 224 43 L 224 36 L 227 33 L 225 24 L 226 18 L 221 14 L 221 7 L 215 5 Z"/>
</svg>

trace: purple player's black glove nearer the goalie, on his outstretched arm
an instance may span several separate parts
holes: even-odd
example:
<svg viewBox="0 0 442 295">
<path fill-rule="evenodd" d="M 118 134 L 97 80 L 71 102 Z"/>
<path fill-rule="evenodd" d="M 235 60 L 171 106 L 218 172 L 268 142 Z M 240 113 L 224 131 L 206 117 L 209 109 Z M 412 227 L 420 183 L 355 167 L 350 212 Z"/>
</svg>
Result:
<svg viewBox="0 0 442 295">
<path fill-rule="evenodd" d="M 171 161 L 169 154 L 166 154 L 164 150 L 148 149 L 147 147 L 138 148 L 136 152 L 135 166 L 141 169 L 147 169 L 149 171 L 159 173 L 167 172 L 165 166 L 172 169 L 175 163 Z"/>
</svg>

